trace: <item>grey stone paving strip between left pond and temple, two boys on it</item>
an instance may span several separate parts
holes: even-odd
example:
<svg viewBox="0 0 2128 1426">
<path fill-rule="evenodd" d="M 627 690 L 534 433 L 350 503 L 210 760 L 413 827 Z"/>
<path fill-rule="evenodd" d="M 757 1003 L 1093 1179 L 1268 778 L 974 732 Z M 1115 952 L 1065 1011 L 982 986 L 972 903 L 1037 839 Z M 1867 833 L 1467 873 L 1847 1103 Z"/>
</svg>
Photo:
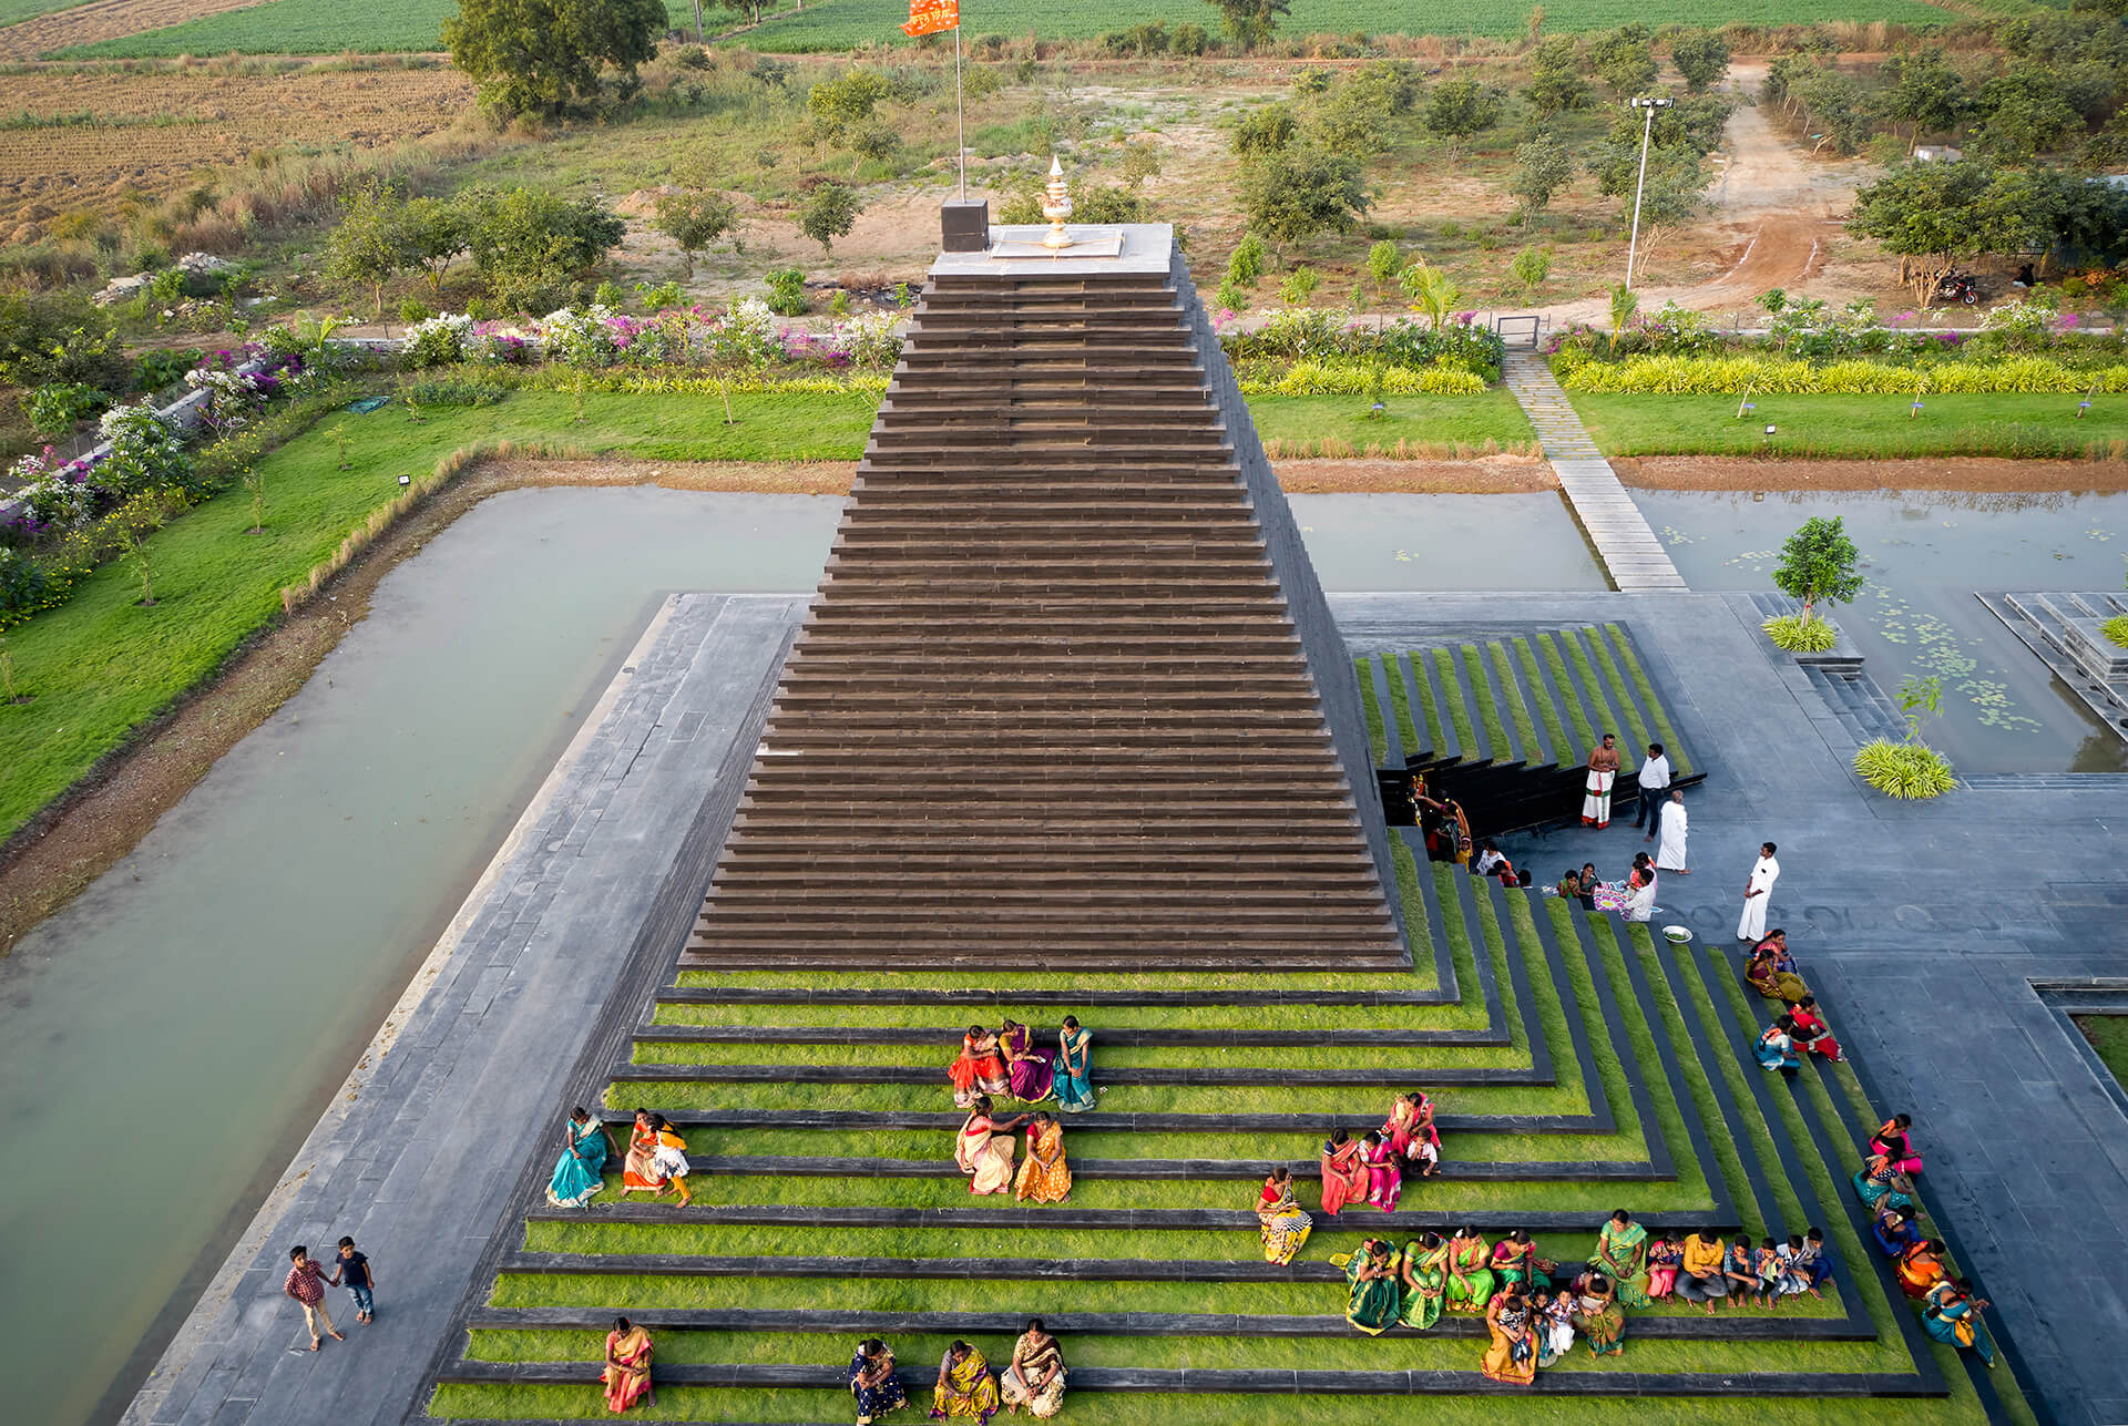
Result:
<svg viewBox="0 0 2128 1426">
<path fill-rule="evenodd" d="M 681 594 L 653 617 L 400 1009 L 126 1411 L 136 1426 L 400 1422 L 517 1205 L 606 1007 L 700 905 L 802 598 Z M 672 924 L 677 917 L 677 926 Z M 630 1007 L 634 1009 L 634 1007 Z M 604 1051 L 602 1051 L 604 1054 Z M 541 1145 L 551 1143 L 553 1151 Z M 311 1354 L 287 1245 L 353 1234 L 377 1320 Z"/>
</svg>

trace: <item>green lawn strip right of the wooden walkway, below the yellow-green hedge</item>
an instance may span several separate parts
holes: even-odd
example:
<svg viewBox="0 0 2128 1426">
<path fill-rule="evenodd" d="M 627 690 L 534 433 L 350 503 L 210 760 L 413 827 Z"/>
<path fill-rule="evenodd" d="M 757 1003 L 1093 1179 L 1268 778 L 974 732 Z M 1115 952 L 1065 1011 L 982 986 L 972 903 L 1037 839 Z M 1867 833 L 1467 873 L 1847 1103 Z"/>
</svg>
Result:
<svg viewBox="0 0 2128 1426">
<path fill-rule="evenodd" d="M 2128 396 L 1575 396 L 1607 455 L 2083 455 L 2128 441 Z M 1777 426 L 1775 436 L 1764 428 Z M 2105 451 L 2100 451 L 2105 453 Z"/>
</svg>

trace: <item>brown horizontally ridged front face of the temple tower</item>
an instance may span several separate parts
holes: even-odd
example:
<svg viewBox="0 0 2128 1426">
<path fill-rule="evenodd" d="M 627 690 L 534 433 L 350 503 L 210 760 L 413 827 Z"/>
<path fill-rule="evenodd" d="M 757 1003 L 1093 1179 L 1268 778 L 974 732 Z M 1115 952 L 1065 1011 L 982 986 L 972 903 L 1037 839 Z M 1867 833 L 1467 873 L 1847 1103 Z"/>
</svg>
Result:
<svg viewBox="0 0 2128 1426">
<path fill-rule="evenodd" d="M 685 968 L 1411 964 L 1192 304 L 932 281 Z"/>
</svg>

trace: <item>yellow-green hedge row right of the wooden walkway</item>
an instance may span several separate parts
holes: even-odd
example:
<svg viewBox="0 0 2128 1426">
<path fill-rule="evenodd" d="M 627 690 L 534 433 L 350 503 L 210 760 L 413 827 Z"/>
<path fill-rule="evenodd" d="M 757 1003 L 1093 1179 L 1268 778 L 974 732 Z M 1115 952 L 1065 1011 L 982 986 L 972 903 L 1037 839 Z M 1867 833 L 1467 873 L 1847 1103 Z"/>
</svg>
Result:
<svg viewBox="0 0 2128 1426">
<path fill-rule="evenodd" d="M 1928 368 L 1879 362 L 1788 362 L 1766 355 L 1641 355 L 1590 362 L 1560 383 L 1602 396 L 1911 396 L 1917 385 L 1943 396 L 2009 392 L 2128 392 L 2128 366 L 2071 368 L 2049 358 L 1941 362 Z"/>
</svg>

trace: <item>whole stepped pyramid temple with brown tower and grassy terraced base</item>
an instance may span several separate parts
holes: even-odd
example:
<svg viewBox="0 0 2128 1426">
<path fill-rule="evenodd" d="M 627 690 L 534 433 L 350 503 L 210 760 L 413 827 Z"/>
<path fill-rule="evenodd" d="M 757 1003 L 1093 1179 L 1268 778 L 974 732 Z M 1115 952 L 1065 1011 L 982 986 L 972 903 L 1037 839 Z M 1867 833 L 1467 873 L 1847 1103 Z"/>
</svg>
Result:
<svg viewBox="0 0 2128 1426">
<path fill-rule="evenodd" d="M 1926 1334 L 1851 1188 L 1883 1105 L 1847 1060 L 1758 1066 L 1766 1009 L 1726 939 L 1428 860 L 1407 826 L 1413 775 L 1496 802 L 1496 826 L 1558 819 L 1605 730 L 1719 794 L 1649 596 L 1332 604 L 1173 232 L 1068 236 L 977 228 L 932 266 L 826 579 L 802 624 L 772 600 L 772 639 L 730 673 L 753 702 L 724 760 L 677 734 L 600 745 L 649 779 L 683 753 L 715 770 L 692 822 L 658 824 L 683 845 L 634 945 L 570 947 L 570 975 L 613 988 L 560 1096 L 513 1102 L 585 1105 L 624 1151 L 638 1107 L 664 1115 L 689 1198 L 626 1192 L 619 1158 L 553 1196 L 555 1120 L 536 1145 L 526 1128 L 415 1413 L 609 1420 L 628 1313 L 655 1343 L 655 1420 L 847 1422 L 868 1337 L 911 1396 L 883 1420 L 924 1420 L 955 1339 L 1002 1369 L 1043 1317 L 1064 1415 L 1124 1426 L 1407 1409 L 1381 1396 L 1432 1396 L 1417 1409 L 1451 1426 L 2034 1422 L 2011 1371 Z M 626 815 L 553 845 L 655 839 Z M 1055 1047 L 1066 1015 L 1098 1090 L 1062 1115 L 1068 1188 L 977 1124 L 985 1173 L 1013 1145 L 1021 1175 L 990 1192 L 958 1162 L 947 1066 L 970 1019 Z M 1015 1088 L 1000 1126 L 1060 1109 Z M 1326 1134 L 1411 1092 L 1441 1177 L 1411 1164 L 1400 1196 L 1383 1175 L 1326 1205 Z M 1292 1211 L 1256 1211 L 1279 1166 L 1311 1217 L 1298 1249 Z M 1490 1254 L 1528 1230 L 1564 1286 L 1615 1209 L 1673 1241 L 1819 1230 L 1828 1266 L 1817 1294 L 1719 1313 L 1649 1303 L 1639 1266 L 1624 1352 L 1579 1343 L 1534 1381 L 1481 1371 L 1481 1313 L 1415 1292 L 1356 1330 L 1343 1264 L 1368 1237 L 1424 1264 L 1428 1234 L 1473 1228 Z M 1296 1394 L 1315 1400 L 1266 1400 Z"/>
</svg>

